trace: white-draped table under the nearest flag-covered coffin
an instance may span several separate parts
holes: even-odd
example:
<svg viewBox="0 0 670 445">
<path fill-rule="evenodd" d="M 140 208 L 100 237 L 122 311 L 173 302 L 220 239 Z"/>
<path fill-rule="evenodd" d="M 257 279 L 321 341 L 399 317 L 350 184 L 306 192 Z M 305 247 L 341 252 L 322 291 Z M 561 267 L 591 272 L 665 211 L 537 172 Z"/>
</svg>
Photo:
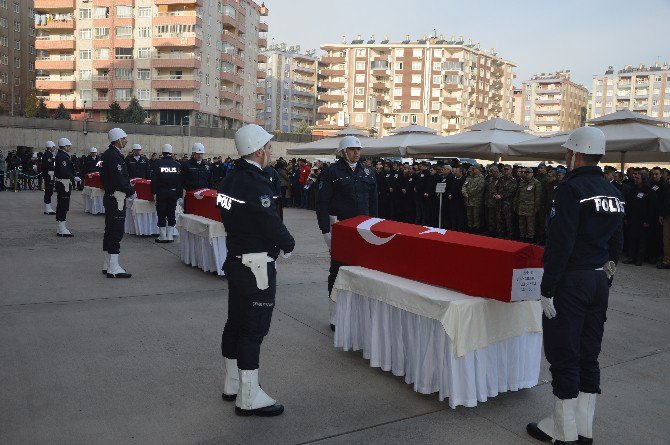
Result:
<svg viewBox="0 0 670 445">
<path fill-rule="evenodd" d="M 449 398 L 451 408 L 537 385 L 539 301 L 471 297 L 353 266 L 340 268 L 331 298 L 335 347 L 362 349 L 370 366 Z"/>
</svg>

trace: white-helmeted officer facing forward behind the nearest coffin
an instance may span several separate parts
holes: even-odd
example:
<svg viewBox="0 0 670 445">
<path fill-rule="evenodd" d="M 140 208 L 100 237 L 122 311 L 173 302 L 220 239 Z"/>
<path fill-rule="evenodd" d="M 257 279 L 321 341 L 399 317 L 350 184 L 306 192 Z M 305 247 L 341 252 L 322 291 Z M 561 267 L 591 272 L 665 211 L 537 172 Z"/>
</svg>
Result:
<svg viewBox="0 0 670 445">
<path fill-rule="evenodd" d="M 342 156 L 321 174 L 316 217 L 328 250 L 331 247 L 330 226 L 333 223 L 358 215 L 375 217 L 378 215 L 375 172 L 361 164 L 361 148 L 361 141 L 355 136 L 343 137 L 339 143 Z M 333 331 L 335 302 L 330 299 L 330 293 L 333 291 L 335 278 L 341 266 L 343 264 L 339 261 L 330 260 L 328 301 L 330 329 Z"/>
</svg>

